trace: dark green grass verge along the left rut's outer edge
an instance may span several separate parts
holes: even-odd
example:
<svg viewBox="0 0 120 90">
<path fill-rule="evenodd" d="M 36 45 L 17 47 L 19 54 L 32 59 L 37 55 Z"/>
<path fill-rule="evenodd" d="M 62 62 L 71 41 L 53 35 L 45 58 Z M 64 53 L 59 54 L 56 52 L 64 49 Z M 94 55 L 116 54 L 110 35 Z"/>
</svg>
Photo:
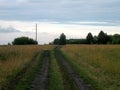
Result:
<svg viewBox="0 0 120 90">
<path fill-rule="evenodd" d="M 41 60 L 43 58 L 43 54 L 44 52 L 35 58 L 32 66 L 26 71 L 24 77 L 19 81 L 13 90 L 29 90 L 31 88 L 32 81 L 41 68 Z"/>
</svg>

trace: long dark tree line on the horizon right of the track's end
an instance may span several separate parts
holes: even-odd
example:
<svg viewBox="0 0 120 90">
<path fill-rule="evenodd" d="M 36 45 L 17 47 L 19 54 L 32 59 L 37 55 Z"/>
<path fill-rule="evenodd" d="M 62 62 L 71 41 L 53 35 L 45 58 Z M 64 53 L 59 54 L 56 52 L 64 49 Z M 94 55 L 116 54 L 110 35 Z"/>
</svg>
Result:
<svg viewBox="0 0 120 90">
<path fill-rule="evenodd" d="M 89 32 L 85 39 L 66 39 L 66 35 L 62 33 L 59 38 L 54 39 L 53 44 L 120 44 L 120 34 L 107 35 L 100 31 L 98 36 L 93 36 Z"/>
</svg>

